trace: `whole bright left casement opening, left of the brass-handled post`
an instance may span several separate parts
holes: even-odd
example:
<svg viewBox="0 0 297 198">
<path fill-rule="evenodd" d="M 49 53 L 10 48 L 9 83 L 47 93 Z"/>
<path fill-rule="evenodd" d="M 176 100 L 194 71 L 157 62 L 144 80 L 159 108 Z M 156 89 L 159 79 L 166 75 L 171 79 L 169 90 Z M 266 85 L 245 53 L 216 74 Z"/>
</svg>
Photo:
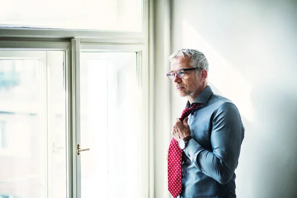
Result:
<svg viewBox="0 0 297 198">
<path fill-rule="evenodd" d="M 0 198 L 65 198 L 65 164 L 63 51 L 0 50 Z"/>
</svg>

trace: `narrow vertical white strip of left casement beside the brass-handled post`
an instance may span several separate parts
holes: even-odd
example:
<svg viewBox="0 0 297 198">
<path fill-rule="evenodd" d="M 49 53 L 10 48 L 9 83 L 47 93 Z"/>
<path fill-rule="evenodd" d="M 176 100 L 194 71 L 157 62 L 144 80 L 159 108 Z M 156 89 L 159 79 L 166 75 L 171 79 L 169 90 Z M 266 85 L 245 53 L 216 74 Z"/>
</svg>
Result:
<svg viewBox="0 0 297 198">
<path fill-rule="evenodd" d="M 66 98 L 63 51 L 47 51 L 48 195 L 66 198 Z"/>
</svg>

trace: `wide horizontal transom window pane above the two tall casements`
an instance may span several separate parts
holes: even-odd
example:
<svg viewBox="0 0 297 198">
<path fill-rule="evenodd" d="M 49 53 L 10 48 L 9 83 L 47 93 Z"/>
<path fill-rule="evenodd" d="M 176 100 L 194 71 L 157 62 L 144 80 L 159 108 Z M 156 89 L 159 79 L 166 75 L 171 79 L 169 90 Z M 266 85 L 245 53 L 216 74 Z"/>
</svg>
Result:
<svg viewBox="0 0 297 198">
<path fill-rule="evenodd" d="M 0 26 L 141 31 L 142 0 L 8 0 Z"/>
</svg>

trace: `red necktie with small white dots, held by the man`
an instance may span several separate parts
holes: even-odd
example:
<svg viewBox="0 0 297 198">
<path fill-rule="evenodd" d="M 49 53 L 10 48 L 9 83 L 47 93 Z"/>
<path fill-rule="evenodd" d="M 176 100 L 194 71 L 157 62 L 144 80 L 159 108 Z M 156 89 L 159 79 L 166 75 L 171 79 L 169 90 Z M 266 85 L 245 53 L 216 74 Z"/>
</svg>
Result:
<svg viewBox="0 0 297 198">
<path fill-rule="evenodd" d="M 185 108 L 180 120 L 183 122 L 199 105 L 200 103 L 194 103 L 191 108 Z M 168 190 L 174 198 L 182 192 L 182 155 L 183 150 L 178 147 L 178 142 L 172 138 L 168 149 Z"/>
</svg>

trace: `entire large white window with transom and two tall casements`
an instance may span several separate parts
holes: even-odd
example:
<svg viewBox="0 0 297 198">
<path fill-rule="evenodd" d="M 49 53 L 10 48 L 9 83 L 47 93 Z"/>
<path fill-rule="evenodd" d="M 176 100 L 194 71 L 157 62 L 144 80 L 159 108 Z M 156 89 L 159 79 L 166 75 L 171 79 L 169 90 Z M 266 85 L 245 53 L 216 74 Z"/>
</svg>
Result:
<svg viewBox="0 0 297 198">
<path fill-rule="evenodd" d="M 148 198 L 145 1 L 17 2 L 0 13 L 0 196 Z"/>
</svg>

